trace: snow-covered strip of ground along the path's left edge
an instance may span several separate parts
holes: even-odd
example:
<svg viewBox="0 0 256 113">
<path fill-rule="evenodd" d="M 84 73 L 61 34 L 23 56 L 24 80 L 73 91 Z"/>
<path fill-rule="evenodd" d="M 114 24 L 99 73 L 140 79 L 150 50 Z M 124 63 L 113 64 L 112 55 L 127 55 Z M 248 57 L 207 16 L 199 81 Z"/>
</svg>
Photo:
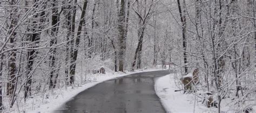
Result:
<svg viewBox="0 0 256 113">
<path fill-rule="evenodd" d="M 145 72 L 145 71 L 157 71 L 162 69 L 146 69 L 146 70 L 136 70 L 134 72 L 127 72 L 127 73 L 106 73 L 106 74 L 93 74 L 89 76 L 89 78 L 94 82 L 89 82 L 84 85 L 79 85 L 75 87 L 67 87 L 62 89 L 56 89 L 52 92 L 47 92 L 45 96 L 48 99 L 45 99 L 45 96 L 42 97 L 35 97 L 33 99 L 28 100 L 25 104 L 21 104 L 17 110 L 11 112 L 18 112 L 18 111 L 25 111 L 25 112 L 53 112 L 53 110 L 62 106 L 65 102 L 72 99 L 72 97 L 76 96 L 78 93 L 83 92 L 85 89 L 93 87 L 100 82 L 127 76 L 133 73 Z M 44 98 L 43 98 L 44 97 Z"/>
</svg>

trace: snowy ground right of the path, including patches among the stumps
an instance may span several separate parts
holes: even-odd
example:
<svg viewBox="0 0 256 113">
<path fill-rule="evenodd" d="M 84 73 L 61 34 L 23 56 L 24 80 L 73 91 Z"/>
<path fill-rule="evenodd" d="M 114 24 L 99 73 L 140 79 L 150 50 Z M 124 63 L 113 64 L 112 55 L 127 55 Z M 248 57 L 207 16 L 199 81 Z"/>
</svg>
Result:
<svg viewBox="0 0 256 113">
<path fill-rule="evenodd" d="M 187 75 L 190 76 L 190 75 Z M 163 77 L 158 77 L 155 79 L 154 89 L 160 98 L 163 107 L 167 112 L 217 112 L 217 108 L 207 108 L 206 105 L 202 104 L 201 99 L 197 95 L 205 95 L 211 92 L 197 91 L 195 94 L 184 94 L 183 91 L 174 92 L 179 90 L 180 86 L 175 84 L 175 75 L 168 74 Z M 176 78 L 177 79 L 177 78 Z M 255 96 L 256 97 L 256 96 Z M 256 101 L 255 101 L 256 102 Z M 231 113 L 235 112 L 237 108 L 228 106 L 231 103 L 231 99 L 223 99 L 221 102 L 221 112 Z M 241 106 L 246 106 L 241 105 Z M 255 104 L 252 106 L 253 109 L 256 108 Z M 255 112 L 253 110 L 252 112 Z"/>
</svg>

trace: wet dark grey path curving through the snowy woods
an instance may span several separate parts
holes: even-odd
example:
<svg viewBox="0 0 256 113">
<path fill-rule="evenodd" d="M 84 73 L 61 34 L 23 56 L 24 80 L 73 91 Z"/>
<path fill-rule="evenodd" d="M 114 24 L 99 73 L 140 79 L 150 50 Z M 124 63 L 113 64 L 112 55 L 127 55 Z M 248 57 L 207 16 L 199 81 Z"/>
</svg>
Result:
<svg viewBox="0 0 256 113">
<path fill-rule="evenodd" d="M 165 112 L 154 91 L 154 78 L 170 71 L 153 71 L 102 82 L 79 93 L 55 112 Z"/>
</svg>

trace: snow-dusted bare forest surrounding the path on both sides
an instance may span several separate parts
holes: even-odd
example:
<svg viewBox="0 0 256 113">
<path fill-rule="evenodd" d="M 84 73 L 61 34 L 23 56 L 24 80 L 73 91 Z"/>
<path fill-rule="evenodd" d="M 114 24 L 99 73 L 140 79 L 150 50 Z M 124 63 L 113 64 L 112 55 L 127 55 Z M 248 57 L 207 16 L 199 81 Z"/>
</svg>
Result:
<svg viewBox="0 0 256 113">
<path fill-rule="evenodd" d="M 0 112 L 85 84 L 101 67 L 165 64 L 180 76 L 198 70 L 187 93 L 199 104 L 244 112 L 256 106 L 255 13 L 254 0 L 0 1 Z"/>
</svg>

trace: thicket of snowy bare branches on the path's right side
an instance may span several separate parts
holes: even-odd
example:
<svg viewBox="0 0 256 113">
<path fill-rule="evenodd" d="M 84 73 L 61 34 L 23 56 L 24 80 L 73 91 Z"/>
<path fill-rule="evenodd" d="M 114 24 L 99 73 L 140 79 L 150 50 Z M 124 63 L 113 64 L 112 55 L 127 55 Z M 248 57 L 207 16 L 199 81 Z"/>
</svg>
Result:
<svg viewBox="0 0 256 113">
<path fill-rule="evenodd" d="M 225 106 L 239 112 L 255 106 L 255 1 L 178 4 L 183 46 L 173 47 L 183 51 L 183 73 L 199 69 L 194 90 L 200 93 L 194 94 L 200 102 L 218 112 Z"/>
</svg>

